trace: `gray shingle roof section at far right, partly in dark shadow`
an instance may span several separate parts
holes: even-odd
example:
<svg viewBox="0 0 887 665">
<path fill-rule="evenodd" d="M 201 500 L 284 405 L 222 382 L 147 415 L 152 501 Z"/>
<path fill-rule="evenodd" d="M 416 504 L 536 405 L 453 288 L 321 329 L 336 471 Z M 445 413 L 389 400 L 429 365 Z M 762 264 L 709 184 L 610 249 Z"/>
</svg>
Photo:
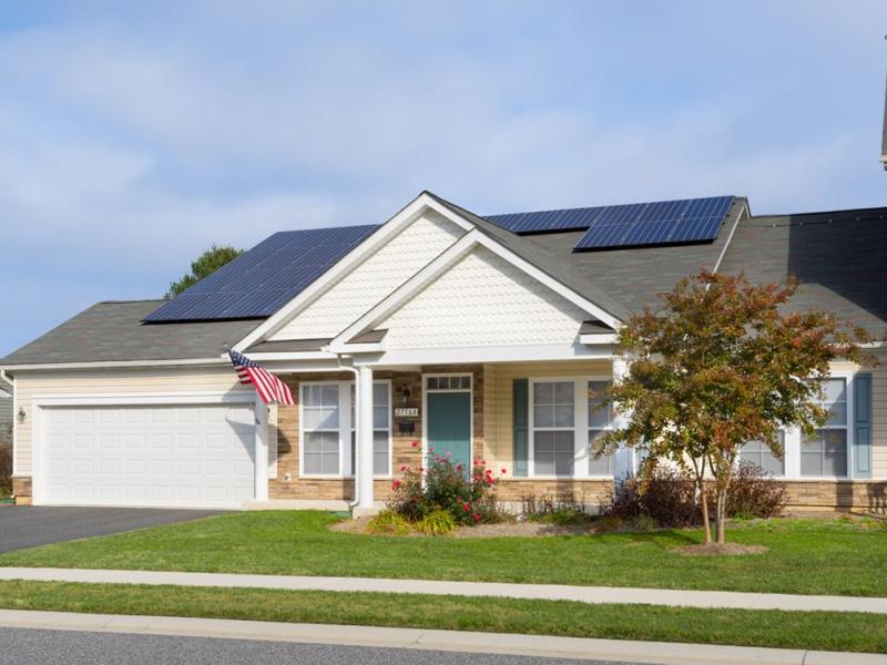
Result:
<svg viewBox="0 0 887 665">
<path fill-rule="evenodd" d="M 801 285 L 789 307 L 827 310 L 887 332 L 887 208 L 752 217 L 740 223 L 721 272 Z"/>
</svg>

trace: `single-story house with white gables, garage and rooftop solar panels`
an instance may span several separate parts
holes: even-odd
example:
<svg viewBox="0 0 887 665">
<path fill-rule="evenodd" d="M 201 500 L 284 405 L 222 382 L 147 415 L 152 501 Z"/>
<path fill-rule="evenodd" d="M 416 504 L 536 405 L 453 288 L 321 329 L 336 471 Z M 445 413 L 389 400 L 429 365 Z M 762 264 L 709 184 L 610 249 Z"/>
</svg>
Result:
<svg viewBox="0 0 887 665">
<path fill-rule="evenodd" d="M 170 301 L 100 303 L 0 361 L 23 410 L 14 493 L 231 508 L 356 493 L 365 511 L 434 447 L 504 469 L 504 500 L 594 502 L 638 461 L 588 446 L 614 426 L 588 395 L 625 371 L 614 330 L 632 310 L 701 268 L 795 275 L 794 307 L 883 338 L 885 216 L 750 216 L 730 196 L 483 218 L 424 192 L 377 227 L 278 233 Z M 227 347 L 298 406 L 264 408 Z M 784 461 L 743 457 L 794 505 L 884 510 L 887 366 L 835 365 L 827 406 L 814 437 L 784 432 Z"/>
</svg>

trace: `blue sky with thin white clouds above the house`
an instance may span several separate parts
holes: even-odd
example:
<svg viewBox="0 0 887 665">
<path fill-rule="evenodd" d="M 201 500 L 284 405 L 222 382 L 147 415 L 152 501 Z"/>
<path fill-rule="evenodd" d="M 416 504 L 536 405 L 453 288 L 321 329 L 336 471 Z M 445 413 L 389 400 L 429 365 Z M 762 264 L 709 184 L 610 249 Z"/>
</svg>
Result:
<svg viewBox="0 0 887 665">
<path fill-rule="evenodd" d="M 887 205 L 881 0 L 132 4 L 3 4 L 0 356 L 212 243 L 424 188 Z"/>
</svg>

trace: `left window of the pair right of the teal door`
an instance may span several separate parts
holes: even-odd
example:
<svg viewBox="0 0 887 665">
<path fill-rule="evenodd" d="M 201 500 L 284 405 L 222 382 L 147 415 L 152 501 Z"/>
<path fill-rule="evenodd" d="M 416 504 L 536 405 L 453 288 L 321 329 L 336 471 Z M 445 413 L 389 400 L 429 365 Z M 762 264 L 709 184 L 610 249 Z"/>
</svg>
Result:
<svg viewBox="0 0 887 665">
<path fill-rule="evenodd" d="M 575 458 L 575 385 L 533 383 L 533 473 L 572 475 Z"/>
</svg>

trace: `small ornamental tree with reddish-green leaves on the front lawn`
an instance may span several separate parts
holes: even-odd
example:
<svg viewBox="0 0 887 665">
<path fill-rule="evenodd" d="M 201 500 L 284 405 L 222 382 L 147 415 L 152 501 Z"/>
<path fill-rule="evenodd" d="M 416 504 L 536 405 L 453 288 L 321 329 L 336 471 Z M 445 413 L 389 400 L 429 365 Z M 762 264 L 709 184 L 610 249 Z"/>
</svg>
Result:
<svg viewBox="0 0 887 665">
<path fill-rule="evenodd" d="M 641 473 L 656 460 L 692 470 L 705 542 L 712 542 L 705 483 L 715 488 L 718 544 L 724 543 L 726 498 L 743 443 L 763 441 L 782 458 L 782 428 L 812 434 L 827 419 L 819 406 L 829 364 L 843 358 L 874 364 L 850 329 L 822 311 L 786 311 L 793 280 L 750 284 L 744 275 L 703 270 L 660 296 L 620 329 L 626 376 L 605 399 L 624 426 L 601 439 L 599 452 L 618 443 L 649 451 Z"/>
</svg>

